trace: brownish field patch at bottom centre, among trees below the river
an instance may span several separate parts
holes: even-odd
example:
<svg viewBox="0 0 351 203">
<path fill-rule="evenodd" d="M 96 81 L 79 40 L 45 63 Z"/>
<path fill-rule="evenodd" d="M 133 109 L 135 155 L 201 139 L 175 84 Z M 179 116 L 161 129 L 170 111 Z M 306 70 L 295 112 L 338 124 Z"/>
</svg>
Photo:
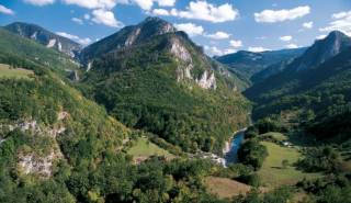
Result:
<svg viewBox="0 0 351 203">
<path fill-rule="evenodd" d="M 207 177 L 205 179 L 205 184 L 208 192 L 217 194 L 220 199 L 246 194 L 251 190 L 251 188 L 247 184 L 218 177 Z"/>
</svg>

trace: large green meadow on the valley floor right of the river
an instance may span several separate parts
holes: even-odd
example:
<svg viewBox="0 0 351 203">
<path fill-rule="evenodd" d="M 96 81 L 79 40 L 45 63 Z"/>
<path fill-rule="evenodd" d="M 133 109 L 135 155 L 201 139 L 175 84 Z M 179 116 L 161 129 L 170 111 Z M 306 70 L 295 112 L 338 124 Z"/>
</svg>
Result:
<svg viewBox="0 0 351 203">
<path fill-rule="evenodd" d="M 293 166 L 302 156 L 297 148 L 282 147 L 269 142 L 262 142 L 262 144 L 269 151 L 262 168 L 258 171 L 263 185 L 274 188 L 283 184 L 295 184 L 304 178 L 314 179 L 320 176 L 319 173 L 303 172 Z M 282 167 L 284 159 L 290 163 L 286 168 Z"/>
</svg>

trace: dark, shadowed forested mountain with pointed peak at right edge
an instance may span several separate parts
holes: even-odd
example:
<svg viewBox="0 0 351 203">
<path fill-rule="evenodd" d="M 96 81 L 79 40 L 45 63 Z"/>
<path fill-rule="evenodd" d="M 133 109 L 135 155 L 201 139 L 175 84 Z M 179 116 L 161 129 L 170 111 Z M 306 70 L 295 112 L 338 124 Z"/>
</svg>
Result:
<svg viewBox="0 0 351 203">
<path fill-rule="evenodd" d="M 332 32 L 282 72 L 249 88 L 245 94 L 257 103 L 254 119 L 271 114 L 292 115 L 292 112 L 313 112 L 322 119 L 347 110 L 351 100 L 350 41 L 346 35 Z"/>
</svg>

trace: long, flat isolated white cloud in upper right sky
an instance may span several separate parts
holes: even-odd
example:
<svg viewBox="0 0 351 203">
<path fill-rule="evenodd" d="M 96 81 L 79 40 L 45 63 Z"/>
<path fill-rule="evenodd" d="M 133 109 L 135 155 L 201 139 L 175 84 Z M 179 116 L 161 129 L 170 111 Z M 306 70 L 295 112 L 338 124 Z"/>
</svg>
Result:
<svg viewBox="0 0 351 203">
<path fill-rule="evenodd" d="M 259 23 L 276 23 L 283 21 L 292 21 L 309 14 L 308 5 L 297 7 L 291 10 L 263 10 L 260 13 L 254 13 L 254 20 Z"/>
</svg>

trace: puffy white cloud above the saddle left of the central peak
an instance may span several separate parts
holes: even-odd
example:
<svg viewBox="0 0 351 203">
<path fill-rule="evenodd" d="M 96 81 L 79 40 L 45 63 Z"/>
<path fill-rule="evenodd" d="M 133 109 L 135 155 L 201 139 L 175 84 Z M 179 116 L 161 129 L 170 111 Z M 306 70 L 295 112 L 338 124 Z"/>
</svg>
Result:
<svg viewBox="0 0 351 203">
<path fill-rule="evenodd" d="M 123 23 L 114 18 L 113 12 L 103 9 L 92 11 L 92 21 L 98 24 L 104 24 L 113 27 L 122 27 Z"/>
</svg>

